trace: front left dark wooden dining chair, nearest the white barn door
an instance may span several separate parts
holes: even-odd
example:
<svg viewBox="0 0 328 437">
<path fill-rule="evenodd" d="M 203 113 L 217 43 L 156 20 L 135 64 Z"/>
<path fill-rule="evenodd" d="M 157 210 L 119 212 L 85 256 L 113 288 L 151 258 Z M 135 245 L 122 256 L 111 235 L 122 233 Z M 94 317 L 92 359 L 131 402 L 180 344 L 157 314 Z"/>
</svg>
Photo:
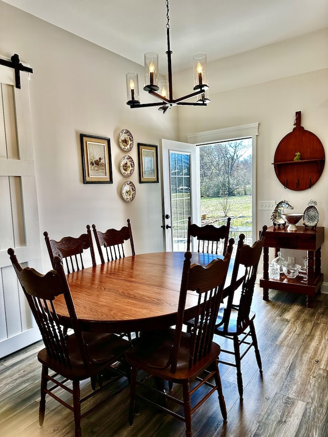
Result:
<svg viewBox="0 0 328 437">
<path fill-rule="evenodd" d="M 100 388 L 81 398 L 80 381 L 95 377 L 109 368 L 117 376 L 108 381 L 106 386 L 122 378 L 124 372 L 118 370 L 116 363 L 118 360 L 124 363 L 124 353 L 131 344 L 115 334 L 81 331 L 59 257 L 54 258 L 55 270 L 41 275 L 33 268 L 22 268 L 13 249 L 8 249 L 8 254 L 45 344 L 45 348 L 37 355 L 38 361 L 42 363 L 39 426 L 42 426 L 44 422 L 46 394 L 48 394 L 74 412 L 75 436 L 80 437 L 80 420 L 91 413 L 97 405 L 103 404 L 127 386 L 123 383 L 118 390 L 109 391 L 108 396 L 100 402 L 98 400 L 97 405 L 95 401 L 91 401 L 91 408 L 81 414 L 81 404 L 98 394 Z M 56 313 L 58 298 L 61 299 L 60 305 L 64 304 L 67 307 L 73 328 L 73 334 L 70 336 L 64 335 L 63 327 L 59 324 Z M 49 370 L 54 373 L 49 374 Z M 48 382 L 51 383 L 49 388 Z M 63 392 L 63 389 L 67 393 Z M 71 396 L 72 402 L 69 401 L 68 395 Z"/>
</svg>

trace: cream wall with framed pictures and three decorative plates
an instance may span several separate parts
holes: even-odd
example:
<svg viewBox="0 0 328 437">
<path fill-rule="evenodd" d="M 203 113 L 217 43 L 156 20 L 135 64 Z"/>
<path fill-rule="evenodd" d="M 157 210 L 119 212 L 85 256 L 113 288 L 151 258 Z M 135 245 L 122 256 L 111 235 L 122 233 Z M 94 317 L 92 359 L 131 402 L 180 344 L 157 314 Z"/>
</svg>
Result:
<svg viewBox="0 0 328 437">
<path fill-rule="evenodd" d="M 50 267 L 44 231 L 54 239 L 78 236 L 92 223 L 105 231 L 130 218 L 136 253 L 161 251 L 160 184 L 139 184 L 137 142 L 158 145 L 160 138 L 175 139 L 177 128 L 173 111 L 163 116 L 153 108 L 126 105 L 125 74 L 137 71 L 142 80 L 144 69 L 0 1 L 0 55 L 10 58 L 14 53 L 33 68 L 30 95 L 44 268 Z M 140 88 L 142 100 L 148 101 Z M 118 144 L 121 129 L 130 130 L 135 144 L 129 153 L 136 166 L 131 203 L 120 194 L 126 180 L 119 171 L 125 155 Z M 113 184 L 83 183 L 80 133 L 110 137 Z"/>
</svg>

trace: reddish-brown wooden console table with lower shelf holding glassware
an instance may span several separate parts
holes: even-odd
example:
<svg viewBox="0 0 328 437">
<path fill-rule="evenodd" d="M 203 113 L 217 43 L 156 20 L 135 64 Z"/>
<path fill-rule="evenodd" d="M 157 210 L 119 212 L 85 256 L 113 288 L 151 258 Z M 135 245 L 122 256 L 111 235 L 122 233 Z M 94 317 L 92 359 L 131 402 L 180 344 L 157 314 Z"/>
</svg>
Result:
<svg viewBox="0 0 328 437">
<path fill-rule="evenodd" d="M 263 300 L 269 299 L 269 289 L 271 288 L 282 292 L 305 295 L 306 306 L 313 308 L 314 297 L 320 293 L 323 282 L 323 274 L 321 273 L 321 245 L 323 241 L 324 227 L 318 226 L 313 230 L 312 228 L 297 226 L 297 231 L 287 231 L 287 227 L 268 227 L 263 247 L 263 278 L 260 279 L 260 287 L 263 288 Z M 307 251 L 307 278 L 298 275 L 296 278 L 291 279 L 281 273 L 280 280 L 269 279 L 269 247 L 275 248 L 276 257 L 280 248 Z"/>
</svg>

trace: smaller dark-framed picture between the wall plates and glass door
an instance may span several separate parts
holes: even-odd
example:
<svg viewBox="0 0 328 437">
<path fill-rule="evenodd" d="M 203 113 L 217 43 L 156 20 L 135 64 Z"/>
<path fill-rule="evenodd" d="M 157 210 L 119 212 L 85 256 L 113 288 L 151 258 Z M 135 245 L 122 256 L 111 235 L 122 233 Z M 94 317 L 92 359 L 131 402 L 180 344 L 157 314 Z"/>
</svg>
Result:
<svg viewBox="0 0 328 437">
<path fill-rule="evenodd" d="M 139 182 L 158 182 L 157 145 L 138 142 Z"/>
</svg>

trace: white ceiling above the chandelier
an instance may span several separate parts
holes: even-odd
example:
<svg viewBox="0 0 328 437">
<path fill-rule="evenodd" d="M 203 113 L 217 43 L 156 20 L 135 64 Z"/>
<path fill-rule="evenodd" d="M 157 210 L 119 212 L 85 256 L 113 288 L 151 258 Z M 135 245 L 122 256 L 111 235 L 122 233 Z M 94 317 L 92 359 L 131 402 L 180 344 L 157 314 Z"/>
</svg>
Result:
<svg viewBox="0 0 328 437">
<path fill-rule="evenodd" d="M 138 64 L 157 52 L 167 72 L 165 0 L 4 1 Z M 323 29 L 328 0 L 171 0 L 170 26 L 177 71 Z"/>
</svg>

